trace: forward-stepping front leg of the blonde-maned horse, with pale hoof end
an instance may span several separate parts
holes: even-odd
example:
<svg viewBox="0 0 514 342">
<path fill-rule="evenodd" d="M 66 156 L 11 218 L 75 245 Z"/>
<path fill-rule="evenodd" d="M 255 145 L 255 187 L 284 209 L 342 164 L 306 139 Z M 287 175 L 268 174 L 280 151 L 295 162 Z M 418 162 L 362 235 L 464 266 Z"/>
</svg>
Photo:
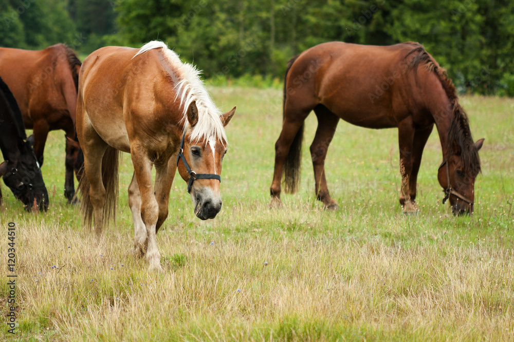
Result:
<svg viewBox="0 0 514 342">
<path fill-rule="evenodd" d="M 141 219 L 148 237 L 146 260 L 149 262 L 150 270 L 161 271 L 160 253 L 155 235 L 159 218 L 159 205 L 155 199 L 152 186 L 152 162 L 144 147 L 138 144 L 131 145 L 131 158 L 141 196 Z"/>
</svg>

